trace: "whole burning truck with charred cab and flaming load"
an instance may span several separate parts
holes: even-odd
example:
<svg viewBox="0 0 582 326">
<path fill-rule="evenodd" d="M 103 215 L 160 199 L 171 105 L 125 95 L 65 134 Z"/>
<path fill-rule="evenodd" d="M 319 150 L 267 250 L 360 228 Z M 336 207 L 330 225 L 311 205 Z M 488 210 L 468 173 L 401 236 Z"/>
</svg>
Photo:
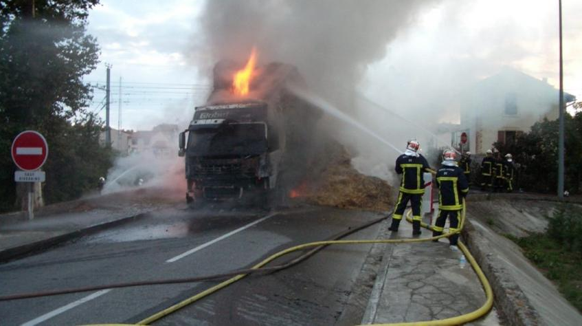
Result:
<svg viewBox="0 0 582 326">
<path fill-rule="evenodd" d="M 305 87 L 295 67 L 255 63 L 254 52 L 243 69 L 232 61 L 217 63 L 208 101 L 195 108 L 179 135 L 189 204 L 280 204 L 306 175 L 320 111 L 289 90 Z"/>
</svg>

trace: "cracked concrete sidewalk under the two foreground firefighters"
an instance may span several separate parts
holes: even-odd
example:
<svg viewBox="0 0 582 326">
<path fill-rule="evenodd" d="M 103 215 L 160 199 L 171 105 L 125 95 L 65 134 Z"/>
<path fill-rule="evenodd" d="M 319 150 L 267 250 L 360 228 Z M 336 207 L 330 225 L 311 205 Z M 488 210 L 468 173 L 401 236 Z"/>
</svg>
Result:
<svg viewBox="0 0 582 326">
<path fill-rule="evenodd" d="M 429 221 L 425 221 L 429 222 Z M 385 222 L 386 228 L 390 221 Z M 412 237 L 412 224 L 403 220 L 399 232 L 385 237 Z M 423 229 L 421 238 L 432 236 Z M 448 239 L 385 246 L 381 268 L 362 324 L 412 323 L 468 314 L 484 305 L 486 296 L 478 276 L 462 252 Z M 493 309 L 471 325 L 500 325 Z"/>
</svg>

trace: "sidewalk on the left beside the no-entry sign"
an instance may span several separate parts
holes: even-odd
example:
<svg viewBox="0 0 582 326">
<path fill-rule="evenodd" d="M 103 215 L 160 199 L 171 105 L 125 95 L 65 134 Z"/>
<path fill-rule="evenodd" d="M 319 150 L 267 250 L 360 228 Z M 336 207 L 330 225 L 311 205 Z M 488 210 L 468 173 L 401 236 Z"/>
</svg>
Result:
<svg viewBox="0 0 582 326">
<path fill-rule="evenodd" d="M 175 197 L 159 197 L 159 189 L 145 189 L 46 206 L 32 220 L 25 212 L 0 215 L 0 262 L 41 252 L 175 204 Z"/>
</svg>

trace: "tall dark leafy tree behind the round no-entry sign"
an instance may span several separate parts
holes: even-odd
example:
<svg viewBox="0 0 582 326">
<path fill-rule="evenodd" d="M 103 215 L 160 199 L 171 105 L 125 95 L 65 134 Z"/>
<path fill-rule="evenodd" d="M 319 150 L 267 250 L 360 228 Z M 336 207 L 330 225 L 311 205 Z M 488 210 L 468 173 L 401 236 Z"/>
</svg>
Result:
<svg viewBox="0 0 582 326">
<path fill-rule="evenodd" d="M 89 157 L 104 158 L 98 170 L 107 171 L 111 160 L 107 151 L 82 156 L 83 146 L 94 149 L 98 140 L 99 122 L 86 109 L 91 88 L 82 82 L 98 63 L 96 39 L 85 30 L 89 9 L 98 2 L 0 1 L 0 146 L 10 148 L 25 129 L 45 135 L 50 152 L 43 168 L 47 202 L 72 199 L 87 189 L 84 177 L 95 172 L 87 169 L 96 169 L 86 162 Z M 59 173 L 65 168 L 76 181 Z M 0 191 L 0 210 L 14 206 L 13 175 L 10 153 L 2 151 L 0 182 L 7 186 Z"/>
</svg>

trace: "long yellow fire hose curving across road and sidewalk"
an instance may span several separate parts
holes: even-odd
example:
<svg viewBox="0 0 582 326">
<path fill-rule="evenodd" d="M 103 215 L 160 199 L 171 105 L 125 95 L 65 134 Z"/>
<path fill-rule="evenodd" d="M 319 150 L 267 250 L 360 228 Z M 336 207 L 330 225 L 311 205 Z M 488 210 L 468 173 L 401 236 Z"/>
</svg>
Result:
<svg viewBox="0 0 582 326">
<path fill-rule="evenodd" d="M 406 216 L 407 221 L 410 221 L 410 222 L 412 222 L 412 218 L 410 217 L 410 215 L 412 215 L 411 213 L 412 212 L 409 210 L 407 213 L 407 216 Z M 464 224 L 465 224 L 465 202 L 463 202 L 463 208 L 462 208 L 461 215 L 460 215 L 460 226 L 459 226 L 458 230 L 456 230 L 454 232 L 445 233 L 443 235 L 439 235 L 438 237 L 429 237 L 429 238 L 423 238 L 423 239 L 338 240 L 338 241 L 316 241 L 316 242 L 304 243 L 302 245 L 294 246 L 294 247 L 288 248 L 286 250 L 282 250 L 280 252 L 277 252 L 276 254 L 273 254 L 272 256 L 268 257 L 267 259 L 254 265 L 251 269 L 262 268 L 263 266 L 267 265 L 267 263 L 269 263 L 269 262 L 271 262 L 279 257 L 282 257 L 285 254 L 289 254 L 290 252 L 294 252 L 297 250 L 303 250 L 306 248 L 311 248 L 311 247 L 316 247 L 316 246 L 328 246 L 328 245 L 337 245 L 337 244 L 412 243 L 412 242 L 432 241 L 435 239 L 449 237 L 451 235 L 454 235 L 455 233 L 460 233 Z M 423 228 L 427 228 L 429 230 L 432 230 L 432 226 L 429 226 L 428 224 L 421 223 L 421 226 L 423 226 Z M 489 312 L 489 310 L 493 306 L 493 291 L 491 290 L 491 285 L 489 285 L 489 281 L 487 281 L 481 268 L 479 267 L 479 265 L 477 264 L 477 262 L 475 261 L 473 256 L 471 256 L 471 252 L 469 252 L 469 250 L 467 250 L 467 247 L 465 247 L 465 245 L 460 241 L 458 242 L 458 247 L 460 248 L 462 253 L 465 254 L 465 257 L 467 257 L 467 261 L 469 261 L 469 263 L 471 263 L 471 267 L 473 268 L 473 270 L 475 271 L 475 273 L 479 277 L 479 280 L 481 281 L 481 285 L 483 286 L 483 289 L 484 289 L 485 295 L 486 295 L 486 301 L 485 301 L 484 305 L 482 305 L 482 307 L 480 307 L 479 309 L 477 309 L 473 312 L 470 312 L 469 314 L 464 314 L 464 315 L 460 315 L 460 316 L 456 316 L 456 317 L 452 317 L 452 318 L 441 319 L 441 320 L 429 320 L 429 321 L 414 322 L 414 323 L 374 324 L 374 325 L 391 325 L 391 326 L 400 326 L 400 325 L 423 325 L 423 326 L 428 326 L 428 325 L 460 325 L 460 324 L 469 323 L 472 320 L 478 319 L 478 318 L 484 316 L 487 312 Z M 200 292 L 199 294 L 191 296 L 190 298 L 188 298 L 184 301 L 181 301 L 180 303 L 177 303 L 176 305 L 172 305 L 171 307 L 168 307 L 164 310 L 161 310 L 160 312 L 157 312 L 156 314 L 153 314 L 152 316 L 149 316 L 148 318 L 141 320 L 138 323 L 138 325 L 148 325 L 150 323 L 153 323 L 156 320 L 163 318 L 164 316 L 168 316 L 168 314 L 172 314 L 173 312 L 176 312 L 178 309 L 181 309 L 182 307 L 186 307 L 186 305 L 190 305 L 190 303 L 194 303 L 195 301 L 198 301 L 201 298 L 208 296 L 209 294 L 212 294 L 218 290 L 221 290 L 223 287 L 226 287 L 227 285 L 230 285 L 230 284 L 232 284 L 240 279 L 243 279 L 243 277 L 245 277 L 247 275 L 248 274 L 239 274 L 239 275 L 232 277 L 232 279 L 228 279 L 227 281 L 223 281 L 222 283 L 214 285 L 213 287 L 210 287 L 208 290 L 204 290 L 203 292 Z"/>
</svg>

